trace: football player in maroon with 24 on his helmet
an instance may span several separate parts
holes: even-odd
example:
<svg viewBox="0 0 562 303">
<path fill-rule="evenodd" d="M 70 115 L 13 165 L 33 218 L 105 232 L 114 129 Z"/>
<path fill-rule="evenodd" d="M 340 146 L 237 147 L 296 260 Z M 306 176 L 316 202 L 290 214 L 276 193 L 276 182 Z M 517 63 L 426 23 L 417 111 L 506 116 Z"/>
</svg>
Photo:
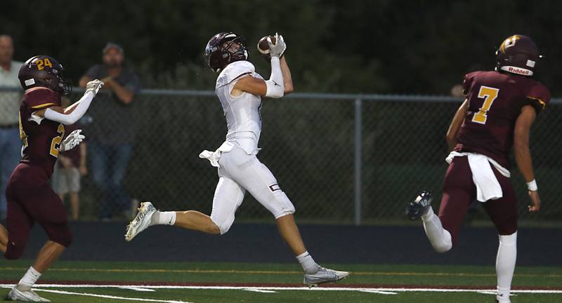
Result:
<svg viewBox="0 0 562 303">
<path fill-rule="evenodd" d="M 73 149 L 84 140 L 81 130 L 65 136 L 65 125 L 84 115 L 103 82 L 90 81 L 84 96 L 63 108 L 60 97 L 70 93 L 72 87 L 63 78 L 63 66 L 55 59 L 44 55 L 30 58 L 20 68 L 19 79 L 25 90 L 20 105 L 22 160 L 6 188 L 8 215 L 6 227 L 0 225 L 0 250 L 7 259 L 19 259 L 34 223 L 43 227 L 48 241 L 32 267 L 8 293 L 8 299 L 49 302 L 33 292 L 32 286 L 72 242 L 65 207 L 51 189 L 49 179 L 59 152 Z"/>
</svg>

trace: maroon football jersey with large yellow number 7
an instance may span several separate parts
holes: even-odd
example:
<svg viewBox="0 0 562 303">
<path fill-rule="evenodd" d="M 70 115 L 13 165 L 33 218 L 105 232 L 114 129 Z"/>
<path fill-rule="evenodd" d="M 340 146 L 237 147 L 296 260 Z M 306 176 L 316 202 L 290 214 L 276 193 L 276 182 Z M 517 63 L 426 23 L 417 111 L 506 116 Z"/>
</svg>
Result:
<svg viewBox="0 0 562 303">
<path fill-rule="evenodd" d="M 469 108 L 455 151 L 483 154 L 509 168 L 508 156 L 521 109 L 532 105 L 541 112 L 550 101 L 548 88 L 525 76 L 499 72 L 467 74 L 462 86 Z"/>
</svg>

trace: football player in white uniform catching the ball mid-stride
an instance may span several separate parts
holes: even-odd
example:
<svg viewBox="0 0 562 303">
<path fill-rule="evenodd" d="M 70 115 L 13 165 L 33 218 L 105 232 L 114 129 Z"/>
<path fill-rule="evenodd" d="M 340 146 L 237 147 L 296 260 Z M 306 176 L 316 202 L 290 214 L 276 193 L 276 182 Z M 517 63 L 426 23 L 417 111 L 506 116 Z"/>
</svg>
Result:
<svg viewBox="0 0 562 303">
<path fill-rule="evenodd" d="M 302 241 L 294 221 L 293 204 L 282 191 L 270 170 L 256 157 L 261 134 L 261 97 L 280 98 L 292 92 L 293 84 L 283 37 L 268 38 L 271 76 L 264 80 L 247 61 L 248 50 L 242 37 L 232 32 L 216 34 L 205 49 L 207 63 L 219 73 L 216 95 L 221 101 L 228 133 L 226 141 L 215 152 L 204 151 L 201 158 L 218 167 L 218 184 L 211 216 L 195 210 L 160 212 L 152 203 L 144 202 L 125 235 L 131 241 L 141 231 L 155 224 L 169 224 L 209 234 L 225 234 L 234 222 L 235 212 L 246 191 L 275 217 L 282 238 L 296 255 L 304 270 L 304 283 L 318 285 L 339 281 L 346 271 L 320 267 Z"/>
</svg>

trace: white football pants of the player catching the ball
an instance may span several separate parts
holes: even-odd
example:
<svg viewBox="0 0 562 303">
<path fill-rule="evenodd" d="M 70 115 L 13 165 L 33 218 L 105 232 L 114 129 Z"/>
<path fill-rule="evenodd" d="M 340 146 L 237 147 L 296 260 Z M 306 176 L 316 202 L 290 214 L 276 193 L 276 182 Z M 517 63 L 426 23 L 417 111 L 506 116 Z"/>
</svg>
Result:
<svg viewBox="0 0 562 303">
<path fill-rule="evenodd" d="M 271 171 L 256 155 L 240 147 L 221 153 L 218 184 L 213 198 L 211 220 L 225 234 L 234 222 L 246 191 L 265 206 L 275 219 L 294 213 L 293 203 L 277 184 Z"/>
</svg>

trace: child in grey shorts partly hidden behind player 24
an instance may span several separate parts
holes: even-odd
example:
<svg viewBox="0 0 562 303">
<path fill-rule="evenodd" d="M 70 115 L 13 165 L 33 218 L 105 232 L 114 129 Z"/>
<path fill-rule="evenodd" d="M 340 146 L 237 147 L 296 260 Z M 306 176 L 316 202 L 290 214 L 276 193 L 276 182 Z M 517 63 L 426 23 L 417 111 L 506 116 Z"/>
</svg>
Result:
<svg viewBox="0 0 562 303">
<path fill-rule="evenodd" d="M 61 99 L 63 107 L 70 106 L 67 97 Z M 97 101 L 97 100 L 96 100 Z M 65 133 L 72 133 L 79 129 L 77 123 L 65 126 Z M 60 200 L 65 201 L 65 195 L 70 196 L 70 213 L 72 220 L 78 220 L 80 208 L 80 177 L 88 173 L 86 168 L 86 142 L 82 142 L 78 148 L 70 149 L 67 152 L 60 152 L 58 155 L 58 169 L 53 174 L 55 191 L 60 196 Z"/>
</svg>

